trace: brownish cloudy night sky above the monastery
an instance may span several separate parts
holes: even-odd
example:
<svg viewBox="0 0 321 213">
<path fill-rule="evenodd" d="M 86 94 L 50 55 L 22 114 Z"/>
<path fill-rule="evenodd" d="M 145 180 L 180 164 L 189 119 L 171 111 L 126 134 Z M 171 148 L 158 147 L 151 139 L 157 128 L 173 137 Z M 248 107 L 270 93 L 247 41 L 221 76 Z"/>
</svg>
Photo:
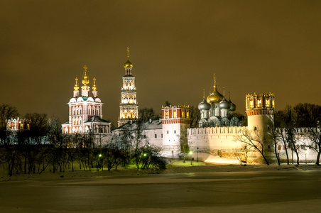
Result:
<svg viewBox="0 0 321 213">
<path fill-rule="evenodd" d="M 97 78 L 116 121 L 126 48 L 138 106 L 197 107 L 212 91 L 321 104 L 321 1 L 0 1 L 3 103 L 68 119 L 75 77 Z"/>
</svg>

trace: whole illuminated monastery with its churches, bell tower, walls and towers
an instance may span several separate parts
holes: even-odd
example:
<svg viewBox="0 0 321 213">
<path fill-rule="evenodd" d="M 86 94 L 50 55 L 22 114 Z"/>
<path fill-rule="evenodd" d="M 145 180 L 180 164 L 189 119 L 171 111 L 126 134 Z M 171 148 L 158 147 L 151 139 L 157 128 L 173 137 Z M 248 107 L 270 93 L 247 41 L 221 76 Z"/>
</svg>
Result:
<svg viewBox="0 0 321 213">
<path fill-rule="evenodd" d="M 248 163 L 262 163 L 261 154 L 257 151 L 246 151 L 244 143 L 239 138 L 244 133 L 256 134 L 264 144 L 264 153 L 273 161 L 274 145 L 269 132 L 273 128 L 274 95 L 246 94 L 247 126 L 241 126 L 241 121 L 234 116 L 236 105 L 227 100 L 225 92 L 219 92 L 216 77 L 214 87 L 208 97 L 203 97 L 198 105 L 200 110 L 199 128 L 190 128 L 189 106 L 163 106 L 159 120 L 138 121 L 138 102 L 136 96 L 135 77 L 132 74 L 133 64 L 124 64 L 125 75 L 122 77 L 121 102 L 119 105 L 118 127 L 111 131 L 111 123 L 103 119 L 103 103 L 98 97 L 95 78 L 90 92 L 87 66 L 84 67 L 82 86 L 75 78 L 73 97 L 68 102 L 69 119 L 62 124 L 63 133 L 96 133 L 104 136 L 104 143 L 110 143 L 124 131 L 132 134 L 140 131 L 143 141 L 148 146 L 158 146 L 161 154 L 169 158 L 180 158 L 192 151 L 192 158 L 197 160 L 212 160 L 222 163 L 236 163 L 247 158 Z M 301 131 L 305 131 L 302 129 Z M 182 143 L 185 142 L 186 149 Z M 308 143 L 302 138 L 304 143 Z M 143 145 L 142 145 L 143 146 Z M 278 145 L 278 154 L 285 158 L 283 145 Z M 275 152 L 275 151 L 274 151 Z M 307 157 L 314 160 L 315 153 L 311 150 L 301 152 L 301 159 Z M 246 155 L 246 156 L 245 156 Z M 294 156 L 295 158 L 295 156 Z M 274 159 L 275 160 L 275 159 Z"/>
</svg>

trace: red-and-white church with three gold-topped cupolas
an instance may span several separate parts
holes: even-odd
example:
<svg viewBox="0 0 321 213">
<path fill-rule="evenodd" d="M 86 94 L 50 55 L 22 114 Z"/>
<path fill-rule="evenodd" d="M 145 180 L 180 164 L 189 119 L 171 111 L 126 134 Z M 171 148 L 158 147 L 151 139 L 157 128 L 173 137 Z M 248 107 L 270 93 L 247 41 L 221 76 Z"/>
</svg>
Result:
<svg viewBox="0 0 321 213">
<path fill-rule="evenodd" d="M 78 79 L 75 78 L 73 97 L 69 105 L 69 121 L 62 124 L 62 133 L 110 133 L 111 123 L 102 119 L 102 101 L 97 97 L 96 79 L 92 85 L 92 96 L 89 96 L 87 66 L 84 67 L 81 94 Z"/>
</svg>

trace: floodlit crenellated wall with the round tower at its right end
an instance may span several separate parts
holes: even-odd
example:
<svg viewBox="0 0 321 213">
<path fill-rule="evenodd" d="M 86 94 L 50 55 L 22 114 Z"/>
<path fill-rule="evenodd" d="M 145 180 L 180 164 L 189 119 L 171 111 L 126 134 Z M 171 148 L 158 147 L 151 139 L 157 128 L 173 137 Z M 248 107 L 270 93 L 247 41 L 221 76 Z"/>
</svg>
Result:
<svg viewBox="0 0 321 213">
<path fill-rule="evenodd" d="M 222 101 L 219 102 L 219 104 L 221 103 Z M 200 128 L 188 129 L 187 138 L 190 149 L 197 150 L 202 160 L 212 158 L 215 162 L 237 163 L 236 155 L 239 154 L 243 146 L 237 138 L 242 133 L 259 132 L 262 136 L 261 139 L 266 144 L 264 152 L 273 158 L 273 146 L 271 140 L 268 140 L 268 132 L 273 128 L 274 121 L 273 94 L 247 94 L 246 114 L 248 126 L 200 126 Z M 222 158 L 225 158 L 225 162 Z M 227 162 L 227 159 L 230 161 Z M 251 162 L 262 163 L 260 160 L 259 153 L 251 152 Z"/>
</svg>

